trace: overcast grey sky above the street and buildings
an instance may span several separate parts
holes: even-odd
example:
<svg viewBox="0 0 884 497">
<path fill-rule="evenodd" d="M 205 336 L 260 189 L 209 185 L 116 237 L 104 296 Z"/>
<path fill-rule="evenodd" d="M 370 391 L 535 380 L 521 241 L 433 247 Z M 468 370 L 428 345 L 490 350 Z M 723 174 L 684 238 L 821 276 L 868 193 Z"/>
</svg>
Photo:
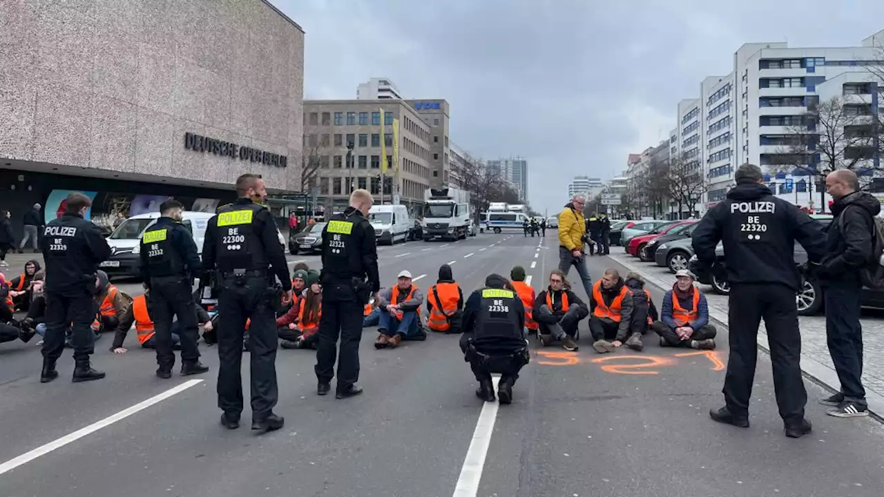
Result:
<svg viewBox="0 0 884 497">
<path fill-rule="evenodd" d="M 305 98 L 355 98 L 370 77 L 445 98 L 451 140 L 528 159 L 530 203 L 551 212 L 575 175 L 610 179 L 668 138 L 678 101 L 744 42 L 856 46 L 884 29 L 874 0 L 271 1 L 307 33 Z"/>
</svg>

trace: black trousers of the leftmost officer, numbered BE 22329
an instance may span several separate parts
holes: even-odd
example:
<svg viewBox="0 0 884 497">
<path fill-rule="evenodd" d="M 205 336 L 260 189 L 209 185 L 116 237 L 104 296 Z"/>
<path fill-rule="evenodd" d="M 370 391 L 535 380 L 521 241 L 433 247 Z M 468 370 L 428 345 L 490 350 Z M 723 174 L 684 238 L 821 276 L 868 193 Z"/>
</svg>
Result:
<svg viewBox="0 0 884 497">
<path fill-rule="evenodd" d="M 57 361 L 65 349 L 65 332 L 71 329 L 73 360 L 88 363 L 95 351 L 95 333 L 92 322 L 95 320 L 95 299 L 83 287 L 64 293 L 47 291 L 46 336 L 43 337 L 43 359 Z"/>
</svg>

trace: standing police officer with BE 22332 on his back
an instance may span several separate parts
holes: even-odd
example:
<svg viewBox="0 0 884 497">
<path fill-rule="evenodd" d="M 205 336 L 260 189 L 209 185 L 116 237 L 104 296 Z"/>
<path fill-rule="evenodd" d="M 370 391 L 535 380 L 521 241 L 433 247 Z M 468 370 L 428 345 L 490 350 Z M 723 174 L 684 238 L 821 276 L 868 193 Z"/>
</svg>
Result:
<svg viewBox="0 0 884 497">
<path fill-rule="evenodd" d="M 161 217 L 141 236 L 141 279 L 149 291 L 150 317 L 156 330 L 156 376 L 171 378 L 175 354 L 171 351 L 171 322 L 177 316 L 181 325 L 181 375 L 209 371 L 200 363 L 200 338 L 196 323 L 196 303 L 192 287 L 202 263 L 194 238 L 181 224 L 181 203 L 167 200 L 160 204 Z"/>
</svg>

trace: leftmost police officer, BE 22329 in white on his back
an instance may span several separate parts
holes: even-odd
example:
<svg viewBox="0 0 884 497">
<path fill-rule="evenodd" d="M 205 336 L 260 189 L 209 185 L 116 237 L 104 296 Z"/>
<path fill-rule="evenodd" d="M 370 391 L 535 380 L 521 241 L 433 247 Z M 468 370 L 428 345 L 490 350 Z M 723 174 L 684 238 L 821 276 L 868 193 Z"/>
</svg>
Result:
<svg viewBox="0 0 884 497">
<path fill-rule="evenodd" d="M 40 245 L 46 262 L 46 336 L 40 382 L 58 378 L 56 361 L 65 348 L 65 331 L 72 330 L 73 381 L 104 378 L 89 364 L 94 352 L 95 274 L 110 257 L 110 246 L 97 226 L 84 219 L 92 205 L 80 193 L 67 195 L 65 213 L 43 229 Z"/>
</svg>

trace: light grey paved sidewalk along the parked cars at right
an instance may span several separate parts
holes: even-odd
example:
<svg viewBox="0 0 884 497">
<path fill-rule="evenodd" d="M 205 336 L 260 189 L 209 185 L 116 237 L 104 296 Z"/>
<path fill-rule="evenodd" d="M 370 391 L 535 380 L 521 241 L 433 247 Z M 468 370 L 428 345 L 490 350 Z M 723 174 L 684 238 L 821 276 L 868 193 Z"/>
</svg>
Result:
<svg viewBox="0 0 884 497">
<path fill-rule="evenodd" d="M 648 283 L 665 290 L 671 288 L 675 277 L 665 267 L 652 263 L 642 263 L 636 257 L 619 251 L 610 257 L 630 271 L 640 272 Z M 711 287 L 700 285 L 709 302 L 709 315 L 718 325 L 728 329 L 728 297 L 716 294 Z M 819 316 L 799 316 L 801 326 L 801 369 L 804 374 L 837 392 L 841 383 L 834 372 L 832 358 L 826 346 L 826 318 Z M 865 348 L 863 385 L 869 410 L 878 417 L 884 417 L 884 319 L 863 316 L 863 344 Z M 764 322 L 758 329 L 758 348 L 768 353 L 767 333 Z M 816 401 L 808 399 L 808 401 Z"/>
</svg>

